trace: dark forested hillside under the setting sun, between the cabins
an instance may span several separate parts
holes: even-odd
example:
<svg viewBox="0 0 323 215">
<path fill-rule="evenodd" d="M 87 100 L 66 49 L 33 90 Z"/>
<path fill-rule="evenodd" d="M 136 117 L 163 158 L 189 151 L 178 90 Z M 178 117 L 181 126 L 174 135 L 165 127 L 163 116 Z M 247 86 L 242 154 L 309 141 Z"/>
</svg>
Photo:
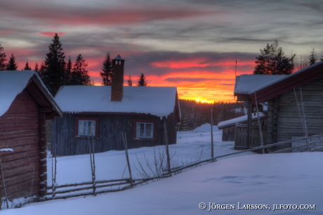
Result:
<svg viewBox="0 0 323 215">
<path fill-rule="evenodd" d="M 205 123 L 213 125 L 219 122 L 241 117 L 244 113 L 244 103 L 200 103 L 195 100 L 180 99 L 181 123 L 179 131 L 191 131 Z"/>
</svg>

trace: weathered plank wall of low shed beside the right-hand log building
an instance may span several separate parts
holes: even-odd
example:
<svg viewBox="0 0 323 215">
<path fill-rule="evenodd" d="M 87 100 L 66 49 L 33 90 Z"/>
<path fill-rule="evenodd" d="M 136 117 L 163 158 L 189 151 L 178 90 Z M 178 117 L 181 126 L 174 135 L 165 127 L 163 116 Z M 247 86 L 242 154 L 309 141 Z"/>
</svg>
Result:
<svg viewBox="0 0 323 215">
<path fill-rule="evenodd" d="M 267 145 L 267 127 L 261 127 L 263 131 L 263 144 Z M 235 126 L 235 149 L 254 148 L 261 146 L 261 136 L 259 126 L 251 126 L 250 141 L 246 140 L 247 126 L 238 124 Z"/>
</svg>

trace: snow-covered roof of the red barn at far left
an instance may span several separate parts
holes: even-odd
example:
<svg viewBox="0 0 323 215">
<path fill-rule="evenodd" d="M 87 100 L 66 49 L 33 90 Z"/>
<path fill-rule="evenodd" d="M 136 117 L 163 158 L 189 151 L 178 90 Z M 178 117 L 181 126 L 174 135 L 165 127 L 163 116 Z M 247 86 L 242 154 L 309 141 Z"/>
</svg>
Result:
<svg viewBox="0 0 323 215">
<path fill-rule="evenodd" d="M 49 93 L 44 83 L 41 82 L 37 72 L 32 70 L 0 71 L 0 116 L 7 112 L 15 97 L 25 89 L 29 79 L 34 75 L 39 79 L 42 86 L 44 86 L 48 95 L 51 96 L 51 93 Z"/>
</svg>

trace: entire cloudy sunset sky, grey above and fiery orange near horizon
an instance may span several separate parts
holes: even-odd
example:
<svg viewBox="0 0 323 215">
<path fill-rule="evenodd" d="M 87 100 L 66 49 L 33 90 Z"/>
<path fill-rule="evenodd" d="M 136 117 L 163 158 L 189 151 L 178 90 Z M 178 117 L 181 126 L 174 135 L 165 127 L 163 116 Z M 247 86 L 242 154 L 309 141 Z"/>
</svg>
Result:
<svg viewBox="0 0 323 215">
<path fill-rule="evenodd" d="M 55 32 L 65 60 L 84 56 L 95 84 L 107 52 L 126 60 L 136 85 L 177 86 L 180 98 L 232 102 L 237 75 L 251 74 L 275 39 L 286 56 L 323 56 L 322 1 L 11 0 L 0 7 L 0 44 L 18 69 L 34 68 Z"/>
</svg>

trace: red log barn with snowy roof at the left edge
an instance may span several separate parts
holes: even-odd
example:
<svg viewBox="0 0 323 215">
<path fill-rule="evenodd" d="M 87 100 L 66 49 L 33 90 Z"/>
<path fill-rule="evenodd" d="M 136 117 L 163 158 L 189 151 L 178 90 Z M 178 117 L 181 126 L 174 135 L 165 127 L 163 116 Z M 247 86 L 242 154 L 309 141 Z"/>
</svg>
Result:
<svg viewBox="0 0 323 215">
<path fill-rule="evenodd" d="M 0 71 L 0 104 L 2 200 L 5 184 L 8 200 L 37 201 L 46 195 L 46 120 L 62 112 L 34 71 Z"/>
</svg>

